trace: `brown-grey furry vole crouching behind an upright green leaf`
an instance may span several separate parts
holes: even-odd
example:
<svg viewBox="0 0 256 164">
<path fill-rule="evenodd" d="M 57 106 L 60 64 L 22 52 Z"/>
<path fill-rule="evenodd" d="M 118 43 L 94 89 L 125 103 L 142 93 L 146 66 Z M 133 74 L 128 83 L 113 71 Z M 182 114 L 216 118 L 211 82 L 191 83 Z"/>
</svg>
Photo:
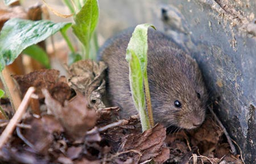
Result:
<svg viewBox="0 0 256 164">
<path fill-rule="evenodd" d="M 125 59 L 131 33 L 112 38 L 100 51 L 101 59 L 108 64 L 108 99 L 113 106 L 121 107 L 123 118 L 138 113 L 131 97 Z M 155 122 L 186 129 L 203 123 L 206 89 L 196 61 L 170 38 L 154 30 L 148 30 L 147 74 Z M 175 101 L 181 107 L 175 106 Z"/>
</svg>

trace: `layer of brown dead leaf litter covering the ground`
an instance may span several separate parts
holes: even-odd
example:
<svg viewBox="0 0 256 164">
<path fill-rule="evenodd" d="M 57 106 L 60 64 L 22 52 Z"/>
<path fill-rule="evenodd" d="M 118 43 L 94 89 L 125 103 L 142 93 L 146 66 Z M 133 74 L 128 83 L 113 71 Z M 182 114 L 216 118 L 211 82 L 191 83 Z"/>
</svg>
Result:
<svg viewBox="0 0 256 164">
<path fill-rule="evenodd" d="M 56 70 L 14 76 L 23 96 L 29 87 L 36 88 L 38 105 L 30 105 L 36 107 L 18 122 L 26 126 L 11 133 L 0 162 L 242 163 L 211 117 L 196 130 L 169 132 L 156 124 L 143 133 L 138 115 L 119 120 L 119 108 L 106 108 L 102 101 L 105 70 L 104 63 L 88 60 L 69 67 L 68 79 Z"/>
</svg>

